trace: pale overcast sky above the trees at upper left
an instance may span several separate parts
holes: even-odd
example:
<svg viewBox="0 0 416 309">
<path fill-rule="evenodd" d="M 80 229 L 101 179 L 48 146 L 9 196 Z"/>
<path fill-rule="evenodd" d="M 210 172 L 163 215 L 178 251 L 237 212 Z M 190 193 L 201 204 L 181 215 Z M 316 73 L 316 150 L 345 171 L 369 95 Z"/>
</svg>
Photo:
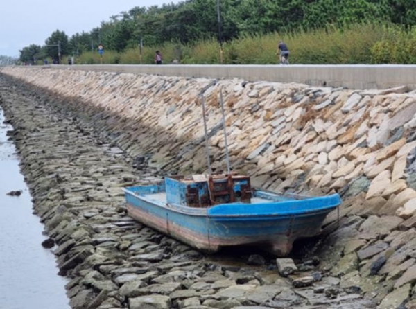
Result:
<svg viewBox="0 0 416 309">
<path fill-rule="evenodd" d="M 44 45 L 55 30 L 71 37 L 110 21 L 110 16 L 136 6 L 162 6 L 179 0 L 2 0 L 0 55 L 19 57 L 31 44 Z"/>
</svg>

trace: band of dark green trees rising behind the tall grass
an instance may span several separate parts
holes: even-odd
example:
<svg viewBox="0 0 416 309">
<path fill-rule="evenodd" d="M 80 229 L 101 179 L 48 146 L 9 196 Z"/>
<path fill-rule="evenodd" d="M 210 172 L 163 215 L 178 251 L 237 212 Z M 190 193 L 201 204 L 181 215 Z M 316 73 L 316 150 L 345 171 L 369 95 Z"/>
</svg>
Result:
<svg viewBox="0 0 416 309">
<path fill-rule="evenodd" d="M 218 29 L 220 3 L 220 29 Z M 166 42 L 193 44 L 201 39 L 232 40 L 278 32 L 327 28 L 343 29 L 355 23 L 383 22 L 416 25 L 415 0 L 186 0 L 148 8 L 137 6 L 103 21 L 89 33 L 70 40 L 59 30 L 46 40 L 46 55 L 58 60 L 60 53 L 77 55 L 97 51 L 98 44 L 116 52 L 135 48 L 143 39 L 146 46 Z M 330 28 L 330 27 L 329 27 Z"/>
</svg>

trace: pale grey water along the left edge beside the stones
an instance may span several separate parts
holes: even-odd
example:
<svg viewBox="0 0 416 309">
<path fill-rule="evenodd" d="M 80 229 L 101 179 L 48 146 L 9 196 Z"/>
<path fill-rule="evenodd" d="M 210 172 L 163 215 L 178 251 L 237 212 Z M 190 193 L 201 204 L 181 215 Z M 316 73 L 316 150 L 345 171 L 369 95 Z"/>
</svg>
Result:
<svg viewBox="0 0 416 309">
<path fill-rule="evenodd" d="M 31 195 L 8 141 L 0 109 L 0 309 L 67 309 L 67 282 L 57 275 L 55 256 L 41 245 L 43 226 L 32 213 Z M 21 190 L 20 196 L 9 196 Z"/>
</svg>

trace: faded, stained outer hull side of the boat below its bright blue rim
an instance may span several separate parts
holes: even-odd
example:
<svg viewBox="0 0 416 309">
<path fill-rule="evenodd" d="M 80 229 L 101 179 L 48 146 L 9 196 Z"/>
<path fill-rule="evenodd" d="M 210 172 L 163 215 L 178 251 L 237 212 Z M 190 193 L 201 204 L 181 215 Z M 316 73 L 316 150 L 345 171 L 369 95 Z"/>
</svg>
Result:
<svg viewBox="0 0 416 309">
<path fill-rule="evenodd" d="M 322 221 L 337 205 L 298 213 L 242 213 L 240 215 L 211 209 L 190 209 L 186 206 L 146 200 L 146 197 L 125 190 L 128 215 L 157 231 L 176 238 L 191 247 L 214 253 L 221 247 L 259 245 L 276 256 L 286 256 L 298 238 L 320 233 Z M 333 202 L 337 201 L 336 196 Z M 339 197 L 338 197 L 339 200 Z M 335 203 L 336 204 L 336 203 Z M 220 205 L 227 207 L 224 204 Z M 241 205 L 232 205 L 233 208 Z M 252 206 L 253 204 L 248 204 Z M 190 209 L 190 211 L 188 211 Z"/>
</svg>

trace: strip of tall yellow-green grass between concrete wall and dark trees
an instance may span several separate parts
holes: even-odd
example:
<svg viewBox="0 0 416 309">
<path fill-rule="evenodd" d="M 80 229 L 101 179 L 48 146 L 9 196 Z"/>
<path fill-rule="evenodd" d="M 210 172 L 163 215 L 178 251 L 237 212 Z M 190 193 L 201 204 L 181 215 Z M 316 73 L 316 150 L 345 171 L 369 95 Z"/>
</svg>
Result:
<svg viewBox="0 0 416 309">
<path fill-rule="evenodd" d="M 223 44 L 223 63 L 276 64 L 279 61 L 276 52 L 280 40 L 288 45 L 292 64 L 416 62 L 416 28 L 406 29 L 392 24 L 352 24 L 239 37 Z M 220 63 L 220 46 L 215 38 L 188 45 L 166 42 L 160 46 L 145 46 L 141 58 L 137 47 L 123 53 L 105 51 L 103 63 L 153 64 L 156 50 L 161 51 L 165 64 Z M 99 64 L 100 57 L 98 53 L 83 53 L 76 63 Z"/>
</svg>

